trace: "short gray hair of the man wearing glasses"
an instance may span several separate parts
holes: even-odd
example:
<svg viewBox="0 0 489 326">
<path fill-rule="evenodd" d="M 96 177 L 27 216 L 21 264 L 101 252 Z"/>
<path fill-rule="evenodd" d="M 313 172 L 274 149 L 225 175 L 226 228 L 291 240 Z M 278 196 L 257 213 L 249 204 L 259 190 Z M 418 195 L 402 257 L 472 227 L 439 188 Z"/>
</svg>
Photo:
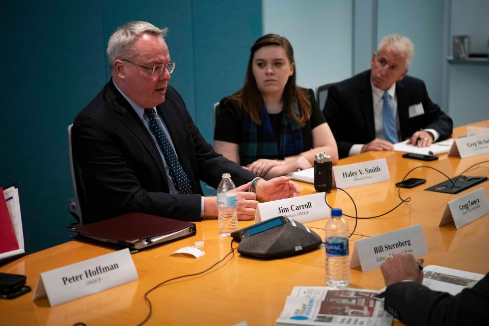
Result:
<svg viewBox="0 0 489 326">
<path fill-rule="evenodd" d="M 108 65 L 111 67 L 111 70 L 114 68 L 114 61 L 127 58 L 133 50 L 132 46 L 135 41 L 145 33 L 161 35 L 164 38 L 168 33 L 168 28 L 166 27 L 160 30 L 155 25 L 146 21 L 130 21 L 120 26 L 112 34 L 107 44 Z"/>
</svg>

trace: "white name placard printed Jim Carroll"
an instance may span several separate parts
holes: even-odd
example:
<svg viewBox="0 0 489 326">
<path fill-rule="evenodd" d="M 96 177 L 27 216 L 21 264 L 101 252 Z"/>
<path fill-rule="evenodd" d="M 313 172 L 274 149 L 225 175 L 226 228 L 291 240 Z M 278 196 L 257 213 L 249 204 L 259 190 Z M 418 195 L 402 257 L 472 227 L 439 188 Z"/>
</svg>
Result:
<svg viewBox="0 0 489 326">
<path fill-rule="evenodd" d="M 256 208 L 255 223 L 281 215 L 301 223 L 327 219 L 331 212 L 325 195 L 318 193 L 260 203 Z"/>
</svg>

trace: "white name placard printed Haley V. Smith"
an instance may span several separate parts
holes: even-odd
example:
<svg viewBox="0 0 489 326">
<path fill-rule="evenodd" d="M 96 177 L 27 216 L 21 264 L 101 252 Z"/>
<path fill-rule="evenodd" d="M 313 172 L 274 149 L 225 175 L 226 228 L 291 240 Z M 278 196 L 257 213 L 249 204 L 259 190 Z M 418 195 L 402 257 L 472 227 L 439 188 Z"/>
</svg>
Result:
<svg viewBox="0 0 489 326">
<path fill-rule="evenodd" d="M 350 188 L 391 179 L 385 158 L 333 167 L 336 186 Z"/>
</svg>

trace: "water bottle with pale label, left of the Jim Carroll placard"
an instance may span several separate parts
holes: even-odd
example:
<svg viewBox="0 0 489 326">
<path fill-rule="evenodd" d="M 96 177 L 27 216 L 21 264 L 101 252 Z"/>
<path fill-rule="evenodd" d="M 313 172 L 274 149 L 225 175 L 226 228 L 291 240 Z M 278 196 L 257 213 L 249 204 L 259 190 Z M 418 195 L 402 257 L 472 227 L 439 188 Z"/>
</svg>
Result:
<svg viewBox="0 0 489 326">
<path fill-rule="evenodd" d="M 218 230 L 221 236 L 231 236 L 238 229 L 238 193 L 229 173 L 223 173 L 218 186 Z"/>
</svg>

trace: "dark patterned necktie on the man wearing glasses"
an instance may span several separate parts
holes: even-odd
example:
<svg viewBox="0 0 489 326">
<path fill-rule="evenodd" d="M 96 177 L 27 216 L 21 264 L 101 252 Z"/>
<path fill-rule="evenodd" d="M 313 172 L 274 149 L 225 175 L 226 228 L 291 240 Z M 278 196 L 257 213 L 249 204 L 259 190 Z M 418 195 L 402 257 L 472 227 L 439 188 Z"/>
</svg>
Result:
<svg viewBox="0 0 489 326">
<path fill-rule="evenodd" d="M 175 183 L 175 187 L 180 194 L 192 194 L 192 186 L 188 180 L 187 174 L 183 171 L 180 161 L 177 158 L 177 154 L 172 148 L 172 145 L 168 141 L 163 129 L 159 126 L 156 121 L 156 116 L 152 108 L 147 108 L 144 110 L 144 114 L 149 118 L 149 126 L 151 127 L 151 132 L 156 138 L 156 142 L 159 148 L 165 156 L 168 167 L 170 168 L 170 176 Z"/>
</svg>

